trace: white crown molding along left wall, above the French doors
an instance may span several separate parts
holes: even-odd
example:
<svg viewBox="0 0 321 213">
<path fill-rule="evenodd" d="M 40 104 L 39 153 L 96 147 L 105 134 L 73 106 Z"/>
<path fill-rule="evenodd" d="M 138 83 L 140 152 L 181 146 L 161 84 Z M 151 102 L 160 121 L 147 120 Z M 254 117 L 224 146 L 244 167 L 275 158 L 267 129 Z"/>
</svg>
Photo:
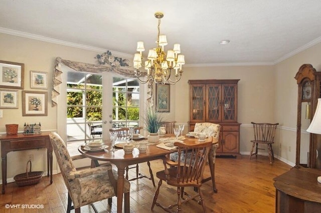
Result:
<svg viewBox="0 0 321 213">
<path fill-rule="evenodd" d="M 103 48 L 84 45 L 84 44 L 80 44 L 80 43 L 69 42 L 69 41 L 65 41 L 65 40 L 59 40 L 56 38 L 46 37 L 46 36 L 42 36 L 42 35 L 36 35 L 36 34 L 32 34 L 32 33 L 17 31 L 17 30 L 3 28 L 3 27 L 0 27 L 0 32 L 5 33 L 5 34 L 16 35 L 16 36 L 20 36 L 20 37 L 30 38 L 30 39 L 34 39 L 34 40 L 41 40 L 41 41 L 45 41 L 45 42 L 49 42 L 49 43 L 56 43 L 56 44 L 60 44 L 60 45 L 65 45 L 65 46 L 70 46 L 70 47 L 75 47 L 75 48 L 80 48 L 80 49 L 86 49 L 86 50 L 90 50 L 90 51 L 96 51 L 96 52 L 105 52 L 106 51 L 106 49 L 103 49 Z M 111 51 L 113 53 L 113 55 L 126 57 L 126 58 L 133 58 L 133 55 L 131 55 L 131 54 L 117 52 L 117 51 L 114 51 L 111 49 L 109 49 L 109 51 Z"/>
</svg>

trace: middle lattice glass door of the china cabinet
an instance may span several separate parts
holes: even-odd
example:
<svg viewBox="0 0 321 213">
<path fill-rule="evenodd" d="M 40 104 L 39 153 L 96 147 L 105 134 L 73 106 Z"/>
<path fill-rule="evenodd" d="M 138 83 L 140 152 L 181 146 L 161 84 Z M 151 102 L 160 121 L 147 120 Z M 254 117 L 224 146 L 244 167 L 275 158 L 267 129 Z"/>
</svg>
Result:
<svg viewBox="0 0 321 213">
<path fill-rule="evenodd" d="M 208 100 L 206 118 L 210 122 L 221 121 L 221 84 L 208 84 L 206 90 Z"/>
</svg>

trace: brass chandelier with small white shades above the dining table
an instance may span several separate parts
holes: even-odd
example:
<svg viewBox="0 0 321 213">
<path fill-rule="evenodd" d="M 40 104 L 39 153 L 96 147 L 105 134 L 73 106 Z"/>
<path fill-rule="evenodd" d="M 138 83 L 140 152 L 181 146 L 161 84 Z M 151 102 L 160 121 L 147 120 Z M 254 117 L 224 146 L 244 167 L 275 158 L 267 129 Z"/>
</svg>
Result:
<svg viewBox="0 0 321 213">
<path fill-rule="evenodd" d="M 175 43 L 174 48 L 169 49 L 167 54 L 165 53 L 164 46 L 168 43 L 166 35 L 161 35 L 159 29 L 161 18 L 164 17 L 164 14 L 162 12 L 155 12 L 154 16 L 158 19 L 157 47 L 149 49 L 147 60 L 142 63 L 142 51 L 145 50 L 144 43 L 143 41 L 137 42 L 137 51 L 139 51 L 139 53 L 135 53 L 133 60 L 134 68 L 136 68 L 135 75 L 141 83 L 148 82 L 148 84 L 151 84 L 152 82 L 155 82 L 165 84 L 168 82 L 170 84 L 175 84 L 181 79 L 183 73 L 182 65 L 185 64 L 184 54 L 179 54 L 181 53 L 181 45 L 179 43 Z M 144 67 L 147 73 L 142 73 L 139 70 L 140 67 Z M 172 77 L 174 79 L 171 79 L 173 69 L 175 69 L 175 77 Z"/>
</svg>

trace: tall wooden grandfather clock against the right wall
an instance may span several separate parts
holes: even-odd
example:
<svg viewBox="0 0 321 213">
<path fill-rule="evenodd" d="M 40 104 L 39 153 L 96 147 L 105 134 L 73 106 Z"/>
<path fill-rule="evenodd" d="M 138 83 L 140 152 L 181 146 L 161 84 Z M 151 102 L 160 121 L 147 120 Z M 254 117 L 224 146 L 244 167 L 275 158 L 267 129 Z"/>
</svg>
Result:
<svg viewBox="0 0 321 213">
<path fill-rule="evenodd" d="M 316 167 L 317 135 L 304 132 L 313 118 L 313 114 L 319 97 L 319 75 L 311 64 L 300 66 L 295 75 L 297 82 L 297 123 L 296 123 L 296 167 Z M 321 155 L 321 153 L 320 153 Z"/>
</svg>

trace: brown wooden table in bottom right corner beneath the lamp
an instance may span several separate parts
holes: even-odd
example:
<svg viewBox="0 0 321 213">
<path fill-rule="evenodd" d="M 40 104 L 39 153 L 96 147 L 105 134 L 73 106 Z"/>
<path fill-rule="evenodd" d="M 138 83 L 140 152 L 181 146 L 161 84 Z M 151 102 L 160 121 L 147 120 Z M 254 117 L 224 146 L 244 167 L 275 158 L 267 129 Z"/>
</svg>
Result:
<svg viewBox="0 0 321 213">
<path fill-rule="evenodd" d="M 275 212 L 321 212 L 321 169 L 292 168 L 275 177 Z"/>
</svg>

